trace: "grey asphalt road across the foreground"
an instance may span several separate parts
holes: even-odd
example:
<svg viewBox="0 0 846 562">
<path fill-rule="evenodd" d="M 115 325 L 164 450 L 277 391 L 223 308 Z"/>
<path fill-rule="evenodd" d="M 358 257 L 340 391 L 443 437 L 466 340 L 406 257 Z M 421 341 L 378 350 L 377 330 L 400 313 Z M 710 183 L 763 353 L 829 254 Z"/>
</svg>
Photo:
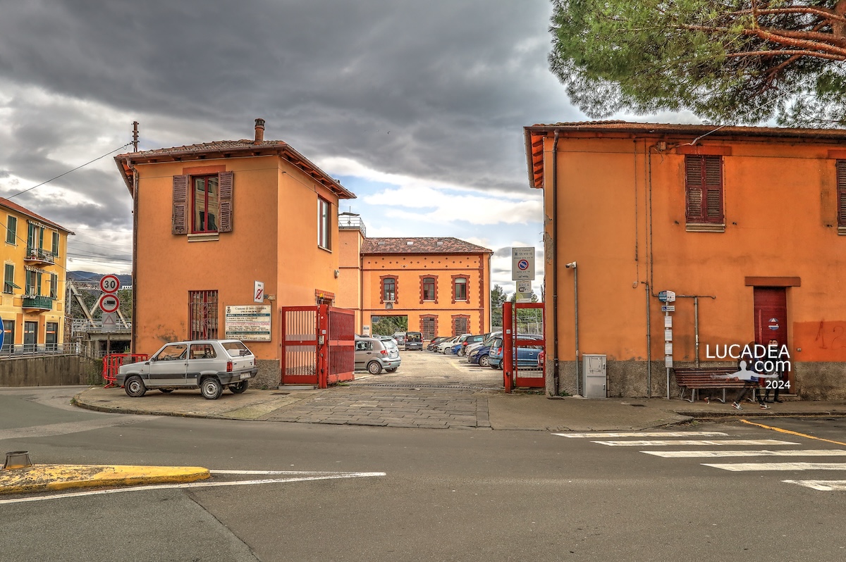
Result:
<svg viewBox="0 0 846 562">
<path fill-rule="evenodd" d="M 664 433 L 661 439 L 717 445 L 629 446 L 595 441 L 657 438 L 131 417 L 74 410 L 66 400 L 75 390 L 0 390 L 4 450 L 29 450 L 39 463 L 292 473 L 217 474 L 215 487 L 51 494 L 25 503 L 0 497 L 0 560 L 830 562 L 846 556 L 846 491 L 783 482 L 843 480 L 846 470 L 706 466 L 846 463 L 846 457 L 801 456 L 846 450 L 830 442 L 844 441 L 838 419 L 762 422 L 828 441 L 722 423 L 678 429 L 724 435 Z M 798 456 L 703 459 L 644 450 L 793 450 Z M 288 481 L 231 485 L 262 478 Z"/>
</svg>

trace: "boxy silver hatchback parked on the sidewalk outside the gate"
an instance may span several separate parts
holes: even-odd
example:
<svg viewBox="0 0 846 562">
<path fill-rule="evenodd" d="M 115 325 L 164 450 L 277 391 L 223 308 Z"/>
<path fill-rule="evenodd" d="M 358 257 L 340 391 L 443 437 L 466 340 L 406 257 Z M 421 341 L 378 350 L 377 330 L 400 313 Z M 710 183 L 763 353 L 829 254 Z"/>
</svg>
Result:
<svg viewBox="0 0 846 562">
<path fill-rule="evenodd" d="M 199 388 L 204 398 L 217 400 L 224 386 L 235 394 L 247 390 L 258 371 L 255 356 L 243 341 L 174 341 L 147 361 L 121 365 L 115 385 L 133 398 L 150 389 L 168 393 Z"/>
</svg>

